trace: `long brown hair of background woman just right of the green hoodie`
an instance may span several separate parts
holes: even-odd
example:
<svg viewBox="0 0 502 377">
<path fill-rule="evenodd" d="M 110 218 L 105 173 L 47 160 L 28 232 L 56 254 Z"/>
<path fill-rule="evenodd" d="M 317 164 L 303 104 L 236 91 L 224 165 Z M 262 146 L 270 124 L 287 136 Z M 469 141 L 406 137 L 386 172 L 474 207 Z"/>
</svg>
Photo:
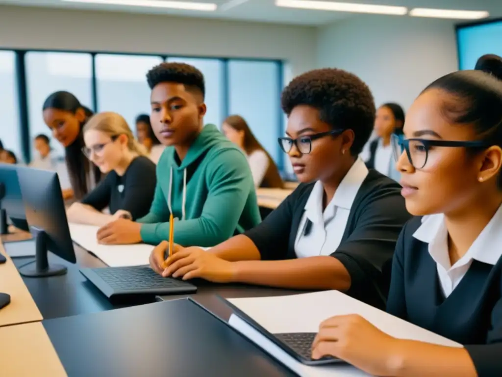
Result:
<svg viewBox="0 0 502 377">
<path fill-rule="evenodd" d="M 244 118 L 240 115 L 230 115 L 223 121 L 223 123 L 228 124 L 234 130 L 244 132 L 244 151 L 247 155 L 250 155 L 257 150 L 261 150 L 267 155 L 267 158 L 269 159 L 269 167 L 265 172 L 261 186 L 282 189 L 283 180 L 281 178 L 281 174 L 279 174 L 279 169 L 277 168 L 276 163 L 270 156 L 269 152 L 267 152 L 263 145 L 257 140 Z"/>
</svg>

